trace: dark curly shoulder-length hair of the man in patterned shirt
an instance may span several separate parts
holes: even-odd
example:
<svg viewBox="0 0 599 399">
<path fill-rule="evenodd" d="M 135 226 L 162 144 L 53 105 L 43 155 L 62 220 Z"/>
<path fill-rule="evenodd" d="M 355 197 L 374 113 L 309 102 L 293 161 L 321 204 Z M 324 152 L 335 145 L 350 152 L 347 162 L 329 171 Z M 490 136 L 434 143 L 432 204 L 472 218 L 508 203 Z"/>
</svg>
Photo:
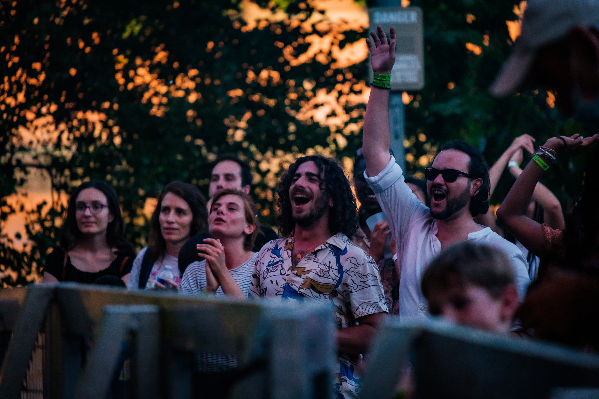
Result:
<svg viewBox="0 0 599 399">
<path fill-rule="evenodd" d="M 311 155 L 294 160 L 282 176 L 277 189 L 277 206 L 280 212 L 277 217 L 277 225 L 280 233 L 283 236 L 288 236 L 295 229 L 289 188 L 299 165 L 310 161 L 316 164 L 319 173 L 324 172 L 324 179 L 320 184 L 323 185 L 326 195 L 333 200 L 335 211 L 329 212 L 329 229 L 331 229 L 331 233 L 343 233 L 348 237 L 352 237 L 358 229 L 358 212 L 349 180 L 334 159 L 320 155 Z"/>
</svg>

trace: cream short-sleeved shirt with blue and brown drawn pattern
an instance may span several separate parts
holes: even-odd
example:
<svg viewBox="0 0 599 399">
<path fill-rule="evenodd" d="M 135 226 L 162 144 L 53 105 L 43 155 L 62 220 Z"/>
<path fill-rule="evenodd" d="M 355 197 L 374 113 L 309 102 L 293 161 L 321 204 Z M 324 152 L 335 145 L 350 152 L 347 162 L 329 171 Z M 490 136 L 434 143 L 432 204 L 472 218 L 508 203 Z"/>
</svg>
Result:
<svg viewBox="0 0 599 399">
<path fill-rule="evenodd" d="M 356 325 L 356 319 L 387 312 L 379 270 L 369 257 L 337 233 L 313 252 L 291 264 L 293 235 L 268 242 L 258 254 L 250 297 L 269 300 L 313 299 L 334 306 L 338 328 Z M 334 375 L 335 397 L 356 398 L 360 389 L 360 355 L 339 352 Z"/>
</svg>

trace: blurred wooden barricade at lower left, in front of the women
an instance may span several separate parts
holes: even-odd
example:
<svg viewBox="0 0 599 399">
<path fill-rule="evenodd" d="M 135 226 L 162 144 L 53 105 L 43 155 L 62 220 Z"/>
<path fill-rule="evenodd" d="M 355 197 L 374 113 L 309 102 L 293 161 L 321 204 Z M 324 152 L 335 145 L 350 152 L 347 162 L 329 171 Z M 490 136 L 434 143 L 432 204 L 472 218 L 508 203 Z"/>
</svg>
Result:
<svg viewBox="0 0 599 399">
<path fill-rule="evenodd" d="M 119 375 L 123 342 L 131 349 L 135 398 L 191 398 L 194 354 L 201 353 L 235 360 L 230 386 L 222 387 L 229 398 L 331 394 L 334 324 L 322 303 L 30 285 L 0 290 L 1 331 L 12 332 L 0 371 L 2 399 L 23 392 L 40 333 L 44 399 L 104 399 Z"/>
</svg>

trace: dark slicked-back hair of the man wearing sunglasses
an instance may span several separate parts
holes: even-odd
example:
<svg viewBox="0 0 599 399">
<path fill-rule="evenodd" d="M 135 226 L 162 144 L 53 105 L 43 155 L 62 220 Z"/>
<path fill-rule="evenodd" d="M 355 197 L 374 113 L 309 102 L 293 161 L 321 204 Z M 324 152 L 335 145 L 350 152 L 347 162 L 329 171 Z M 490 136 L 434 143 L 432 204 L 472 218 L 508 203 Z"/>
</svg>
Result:
<svg viewBox="0 0 599 399">
<path fill-rule="evenodd" d="M 470 214 L 473 217 L 478 214 L 486 214 L 489 210 L 491 181 L 489 180 L 489 165 L 486 163 L 485 156 L 463 140 L 455 140 L 443 144 L 441 151 L 445 150 L 462 151 L 462 153 L 470 157 L 468 175 L 472 176 L 472 179 L 483 179 L 483 184 L 480 186 L 479 192 L 470 198 Z"/>
</svg>

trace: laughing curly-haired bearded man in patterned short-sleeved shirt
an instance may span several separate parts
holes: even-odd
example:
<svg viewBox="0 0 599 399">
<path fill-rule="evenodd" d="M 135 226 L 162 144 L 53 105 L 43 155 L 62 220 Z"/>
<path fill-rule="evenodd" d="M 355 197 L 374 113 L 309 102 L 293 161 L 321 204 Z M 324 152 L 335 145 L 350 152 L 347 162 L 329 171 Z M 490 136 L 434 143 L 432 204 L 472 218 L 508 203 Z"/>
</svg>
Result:
<svg viewBox="0 0 599 399">
<path fill-rule="evenodd" d="M 279 182 L 282 239 L 262 247 L 250 296 L 331 303 L 337 319 L 337 398 L 359 391 L 361 354 L 388 312 L 374 260 L 347 238 L 358 227 L 343 169 L 322 156 L 296 159 Z"/>
</svg>

